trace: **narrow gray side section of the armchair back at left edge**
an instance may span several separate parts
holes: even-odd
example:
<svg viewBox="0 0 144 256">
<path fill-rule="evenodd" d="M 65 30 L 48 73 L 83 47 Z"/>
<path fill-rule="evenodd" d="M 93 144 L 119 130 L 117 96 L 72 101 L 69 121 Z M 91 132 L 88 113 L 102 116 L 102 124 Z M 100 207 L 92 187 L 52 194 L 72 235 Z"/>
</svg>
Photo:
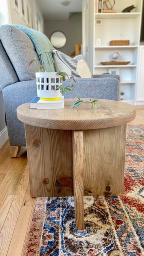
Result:
<svg viewBox="0 0 144 256">
<path fill-rule="evenodd" d="M 18 76 L 0 41 L 0 87 L 18 82 Z"/>
</svg>

